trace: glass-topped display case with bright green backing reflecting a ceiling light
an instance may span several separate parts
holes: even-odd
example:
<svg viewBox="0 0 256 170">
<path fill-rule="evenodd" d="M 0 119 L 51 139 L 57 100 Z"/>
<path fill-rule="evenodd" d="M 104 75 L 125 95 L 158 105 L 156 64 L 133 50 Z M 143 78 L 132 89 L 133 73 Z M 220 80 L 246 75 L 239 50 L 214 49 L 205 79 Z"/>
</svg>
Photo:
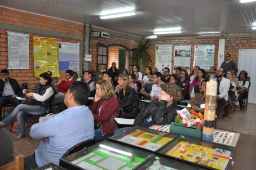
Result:
<svg viewBox="0 0 256 170">
<path fill-rule="evenodd" d="M 65 156 L 60 166 L 65 169 L 139 169 L 154 154 L 132 147 L 103 141 Z"/>
</svg>

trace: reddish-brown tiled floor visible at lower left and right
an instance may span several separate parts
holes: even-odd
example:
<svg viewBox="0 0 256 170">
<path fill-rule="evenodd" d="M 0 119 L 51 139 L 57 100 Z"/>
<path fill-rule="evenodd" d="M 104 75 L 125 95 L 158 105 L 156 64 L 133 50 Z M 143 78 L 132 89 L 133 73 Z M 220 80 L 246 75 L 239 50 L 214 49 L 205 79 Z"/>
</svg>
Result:
<svg viewBox="0 0 256 170">
<path fill-rule="evenodd" d="M 28 119 L 29 126 L 31 126 L 30 121 Z M 9 126 L 6 128 L 10 129 Z M 233 158 L 234 165 L 229 169 L 256 169 L 256 104 L 249 104 L 245 113 L 241 113 L 240 110 L 232 112 L 227 118 L 219 121 L 217 128 L 241 133 L 236 146 L 236 155 Z M 30 128 L 27 129 L 26 137 L 14 141 L 14 155 L 32 155 L 39 146 L 41 140 L 29 140 L 29 131 Z M 17 133 L 12 133 L 12 136 L 16 137 Z"/>
</svg>

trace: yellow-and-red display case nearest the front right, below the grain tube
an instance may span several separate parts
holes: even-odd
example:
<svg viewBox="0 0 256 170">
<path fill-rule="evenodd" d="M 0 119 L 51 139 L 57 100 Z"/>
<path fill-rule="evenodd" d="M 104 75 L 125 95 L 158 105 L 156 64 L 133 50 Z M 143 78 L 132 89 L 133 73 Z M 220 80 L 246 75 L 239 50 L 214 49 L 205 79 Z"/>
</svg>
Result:
<svg viewBox="0 0 256 170">
<path fill-rule="evenodd" d="M 157 154 L 202 169 L 229 169 L 236 148 L 180 136 Z"/>
</svg>

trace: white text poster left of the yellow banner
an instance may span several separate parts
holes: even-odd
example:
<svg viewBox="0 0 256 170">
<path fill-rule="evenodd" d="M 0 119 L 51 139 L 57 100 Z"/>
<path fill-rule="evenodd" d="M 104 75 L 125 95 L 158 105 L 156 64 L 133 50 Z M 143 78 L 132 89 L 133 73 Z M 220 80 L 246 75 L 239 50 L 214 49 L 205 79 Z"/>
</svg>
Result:
<svg viewBox="0 0 256 170">
<path fill-rule="evenodd" d="M 7 32 L 8 69 L 29 69 L 29 34 Z"/>
</svg>

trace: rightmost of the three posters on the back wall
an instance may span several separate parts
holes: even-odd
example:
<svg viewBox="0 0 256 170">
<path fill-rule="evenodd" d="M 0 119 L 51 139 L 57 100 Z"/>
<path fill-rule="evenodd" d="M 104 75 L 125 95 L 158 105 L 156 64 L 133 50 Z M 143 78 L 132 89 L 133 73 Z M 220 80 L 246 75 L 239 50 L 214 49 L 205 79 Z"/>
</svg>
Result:
<svg viewBox="0 0 256 170">
<path fill-rule="evenodd" d="M 200 66 L 208 72 L 214 66 L 214 52 L 215 45 L 195 45 L 193 68 Z"/>
</svg>

